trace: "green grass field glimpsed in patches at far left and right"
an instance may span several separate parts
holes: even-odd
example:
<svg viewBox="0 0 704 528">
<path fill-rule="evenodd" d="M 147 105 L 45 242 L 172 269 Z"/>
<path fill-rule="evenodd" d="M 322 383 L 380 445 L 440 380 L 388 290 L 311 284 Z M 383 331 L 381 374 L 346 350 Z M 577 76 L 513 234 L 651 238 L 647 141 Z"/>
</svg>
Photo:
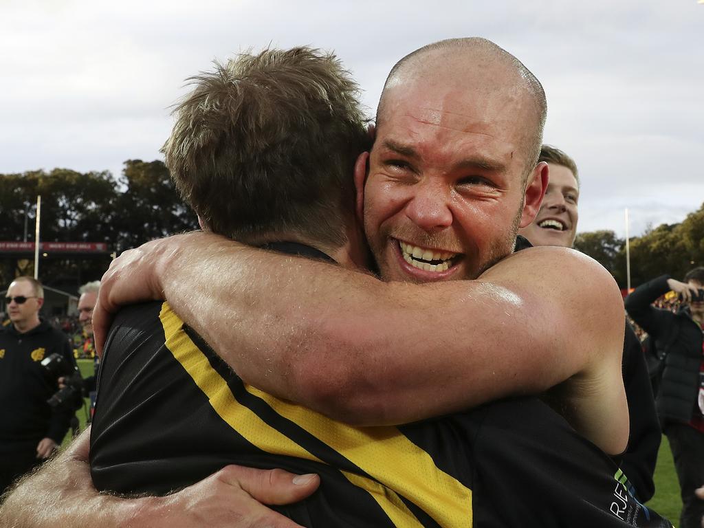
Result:
<svg viewBox="0 0 704 528">
<path fill-rule="evenodd" d="M 78 360 L 78 368 L 83 377 L 93 375 L 93 360 L 80 359 Z M 76 413 L 81 425 L 81 430 L 85 428 L 86 413 L 88 406 L 79 409 Z M 65 446 L 70 441 L 70 435 L 66 436 L 63 441 Z M 672 463 L 672 453 L 670 452 L 670 444 L 667 444 L 667 438 L 662 436 L 662 444 L 660 444 L 660 453 L 658 453 L 658 465 L 655 467 L 655 496 L 648 502 L 648 507 L 670 519 L 675 525 L 679 523 L 679 512 L 682 509 L 682 501 L 679 498 L 679 484 L 677 483 L 677 474 L 674 472 L 674 464 Z"/>
</svg>

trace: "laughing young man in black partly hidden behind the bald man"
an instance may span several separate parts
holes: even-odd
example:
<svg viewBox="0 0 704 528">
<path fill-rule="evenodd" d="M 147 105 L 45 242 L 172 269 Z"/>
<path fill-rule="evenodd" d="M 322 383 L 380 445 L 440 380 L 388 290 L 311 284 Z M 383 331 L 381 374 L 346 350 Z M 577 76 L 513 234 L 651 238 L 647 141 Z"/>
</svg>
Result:
<svg viewBox="0 0 704 528">
<path fill-rule="evenodd" d="M 548 190 L 535 220 L 519 233 L 533 246 L 571 248 L 579 220 L 577 163 L 565 152 L 550 145 L 542 146 L 539 161 L 548 163 Z M 625 332 L 622 372 L 630 434 L 628 448 L 618 462 L 631 484 L 631 493 L 646 502 L 655 493 L 653 473 L 662 434 L 641 343 L 628 322 Z"/>
</svg>

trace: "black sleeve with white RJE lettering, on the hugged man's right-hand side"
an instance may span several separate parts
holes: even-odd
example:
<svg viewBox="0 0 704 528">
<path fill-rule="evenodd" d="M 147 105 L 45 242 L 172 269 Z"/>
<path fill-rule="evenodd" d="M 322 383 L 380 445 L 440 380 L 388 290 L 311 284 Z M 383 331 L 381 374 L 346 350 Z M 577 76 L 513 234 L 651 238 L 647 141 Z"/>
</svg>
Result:
<svg viewBox="0 0 704 528">
<path fill-rule="evenodd" d="M 522 398 L 487 408 L 474 436 L 475 526 L 672 527 L 617 481 L 607 455 L 544 403 Z"/>
</svg>

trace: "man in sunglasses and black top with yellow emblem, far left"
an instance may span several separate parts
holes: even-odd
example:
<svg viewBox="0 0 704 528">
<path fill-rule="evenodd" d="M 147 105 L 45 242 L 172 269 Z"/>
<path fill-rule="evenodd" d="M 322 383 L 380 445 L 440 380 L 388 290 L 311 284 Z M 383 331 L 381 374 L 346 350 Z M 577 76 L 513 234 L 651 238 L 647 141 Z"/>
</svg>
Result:
<svg viewBox="0 0 704 528">
<path fill-rule="evenodd" d="M 68 339 L 39 319 L 39 281 L 18 277 L 5 303 L 12 324 L 0 331 L 0 494 L 61 444 L 74 408 L 57 380 L 76 372 Z"/>
</svg>

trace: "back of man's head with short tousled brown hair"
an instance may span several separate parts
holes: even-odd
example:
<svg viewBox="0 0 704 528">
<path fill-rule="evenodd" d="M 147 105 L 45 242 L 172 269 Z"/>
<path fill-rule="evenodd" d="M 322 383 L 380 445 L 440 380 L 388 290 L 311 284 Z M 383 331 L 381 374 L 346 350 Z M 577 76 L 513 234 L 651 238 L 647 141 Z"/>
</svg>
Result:
<svg viewBox="0 0 704 528">
<path fill-rule="evenodd" d="M 190 80 L 163 153 L 201 222 L 251 244 L 295 233 L 342 246 L 354 163 L 369 139 L 358 86 L 339 60 L 266 49 Z"/>
</svg>

